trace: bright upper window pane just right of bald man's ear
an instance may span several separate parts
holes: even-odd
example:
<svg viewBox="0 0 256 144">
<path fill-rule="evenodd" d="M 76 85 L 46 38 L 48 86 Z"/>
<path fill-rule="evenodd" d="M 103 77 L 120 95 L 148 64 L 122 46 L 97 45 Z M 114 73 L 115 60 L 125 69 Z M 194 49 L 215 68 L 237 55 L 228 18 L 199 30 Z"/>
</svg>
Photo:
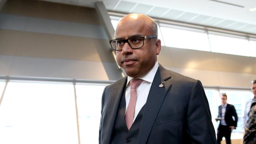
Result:
<svg viewBox="0 0 256 144">
<path fill-rule="evenodd" d="M 208 36 L 205 31 L 194 29 L 194 31 L 190 29 L 182 30 L 161 25 L 162 24 L 160 24 L 160 30 L 165 46 L 210 51 Z"/>
</svg>

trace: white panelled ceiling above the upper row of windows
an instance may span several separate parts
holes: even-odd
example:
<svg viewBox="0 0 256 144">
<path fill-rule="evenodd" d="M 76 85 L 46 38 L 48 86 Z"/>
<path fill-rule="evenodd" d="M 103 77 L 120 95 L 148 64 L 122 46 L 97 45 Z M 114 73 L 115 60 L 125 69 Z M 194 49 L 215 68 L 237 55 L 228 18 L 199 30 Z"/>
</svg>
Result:
<svg viewBox="0 0 256 144">
<path fill-rule="evenodd" d="M 256 34 L 256 0 L 45 0 L 94 7 L 104 2 L 110 11 L 144 13 L 152 17 Z"/>
</svg>

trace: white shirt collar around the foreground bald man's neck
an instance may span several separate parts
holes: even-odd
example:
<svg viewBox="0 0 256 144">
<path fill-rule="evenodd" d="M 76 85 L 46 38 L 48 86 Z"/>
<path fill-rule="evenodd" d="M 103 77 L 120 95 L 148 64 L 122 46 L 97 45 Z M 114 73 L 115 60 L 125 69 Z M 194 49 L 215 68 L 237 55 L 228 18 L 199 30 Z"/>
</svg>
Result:
<svg viewBox="0 0 256 144">
<path fill-rule="evenodd" d="M 156 75 L 156 71 L 158 69 L 158 62 L 156 61 L 155 65 L 153 66 L 153 68 L 151 70 L 149 70 L 149 72 L 147 74 L 145 74 L 144 76 L 138 77 L 139 79 L 142 79 L 144 81 L 148 81 L 149 83 L 153 82 L 153 79 Z M 128 87 L 130 80 L 134 79 L 133 77 L 127 76 L 127 83 L 126 83 L 126 87 Z"/>
</svg>

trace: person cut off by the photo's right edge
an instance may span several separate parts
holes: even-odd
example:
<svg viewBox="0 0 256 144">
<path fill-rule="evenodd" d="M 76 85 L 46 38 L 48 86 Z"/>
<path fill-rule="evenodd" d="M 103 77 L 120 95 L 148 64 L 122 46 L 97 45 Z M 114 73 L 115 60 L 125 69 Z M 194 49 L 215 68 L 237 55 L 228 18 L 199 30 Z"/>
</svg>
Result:
<svg viewBox="0 0 256 144">
<path fill-rule="evenodd" d="M 244 144 L 256 144 L 256 80 L 252 81 L 251 90 L 254 97 L 246 103 L 245 107 L 245 136 Z M 247 113 L 249 111 L 249 113 Z"/>
</svg>

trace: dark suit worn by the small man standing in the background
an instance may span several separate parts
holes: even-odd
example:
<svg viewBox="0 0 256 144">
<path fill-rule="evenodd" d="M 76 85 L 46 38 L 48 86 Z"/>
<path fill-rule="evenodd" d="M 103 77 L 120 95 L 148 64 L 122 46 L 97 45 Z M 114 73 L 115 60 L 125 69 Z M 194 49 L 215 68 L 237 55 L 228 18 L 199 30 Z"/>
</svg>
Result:
<svg viewBox="0 0 256 144">
<path fill-rule="evenodd" d="M 222 109 L 222 105 L 219 105 L 219 115 L 218 115 L 219 118 L 221 118 L 221 109 Z M 233 116 L 234 116 L 234 119 L 233 119 Z M 230 105 L 227 103 L 224 120 L 227 124 L 226 127 L 228 127 L 229 131 L 225 130 L 220 122 L 219 127 L 218 127 L 218 135 L 220 135 L 220 136 L 218 136 L 218 137 L 221 137 L 221 139 L 224 136 L 230 137 L 230 135 L 231 135 L 230 126 L 234 126 L 234 127 L 237 126 L 238 117 L 237 117 L 237 113 L 236 113 L 236 109 L 235 109 L 234 105 Z M 221 139 L 219 141 L 221 141 Z M 226 143 L 228 144 L 229 142 L 226 141 Z"/>
</svg>

